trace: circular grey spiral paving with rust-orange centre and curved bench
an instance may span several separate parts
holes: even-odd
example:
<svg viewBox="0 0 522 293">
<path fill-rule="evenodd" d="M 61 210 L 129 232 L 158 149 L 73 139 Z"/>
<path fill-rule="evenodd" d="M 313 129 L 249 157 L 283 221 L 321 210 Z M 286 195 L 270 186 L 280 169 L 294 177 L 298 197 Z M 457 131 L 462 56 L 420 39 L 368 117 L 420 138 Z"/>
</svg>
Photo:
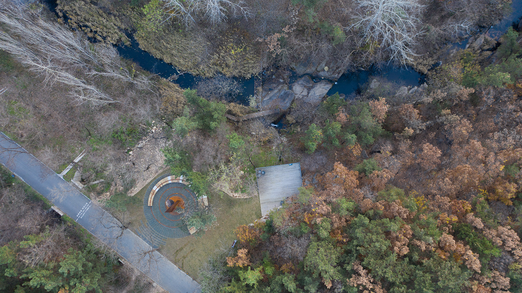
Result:
<svg viewBox="0 0 522 293">
<path fill-rule="evenodd" d="M 180 182 L 181 181 L 181 182 Z M 146 223 L 138 228 L 138 235 L 152 247 L 165 245 L 167 238 L 191 235 L 183 223 L 183 215 L 196 207 L 196 194 L 188 188 L 183 178 L 169 174 L 154 180 L 143 200 Z"/>
</svg>

